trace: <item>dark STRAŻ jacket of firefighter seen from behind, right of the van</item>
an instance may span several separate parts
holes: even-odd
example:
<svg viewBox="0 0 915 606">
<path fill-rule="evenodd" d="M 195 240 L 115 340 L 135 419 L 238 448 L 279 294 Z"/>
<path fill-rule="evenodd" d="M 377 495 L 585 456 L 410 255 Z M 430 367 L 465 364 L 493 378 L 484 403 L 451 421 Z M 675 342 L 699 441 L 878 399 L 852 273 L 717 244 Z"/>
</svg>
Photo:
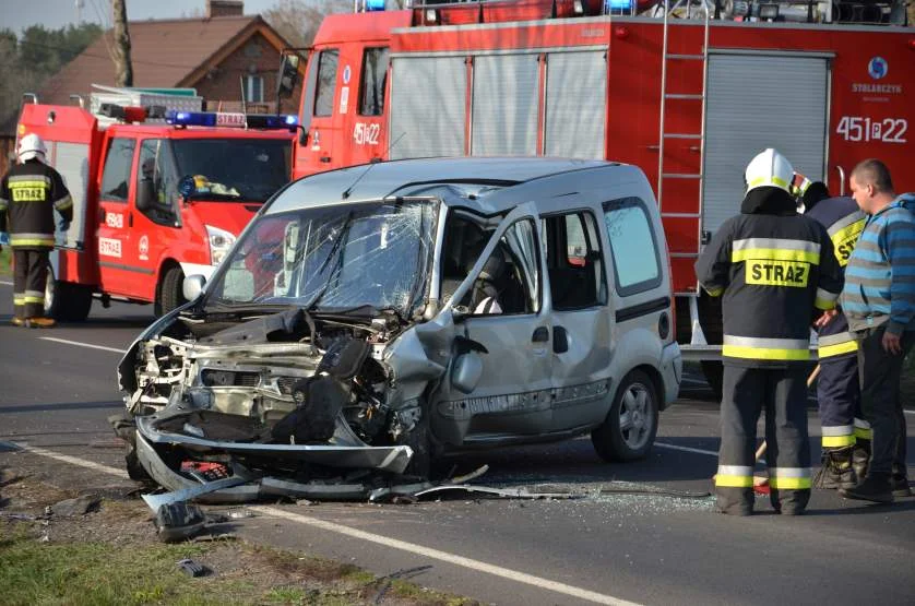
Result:
<svg viewBox="0 0 915 606">
<path fill-rule="evenodd" d="M 825 228 L 798 215 L 783 189 L 750 190 L 696 262 L 712 296 L 723 296 L 726 364 L 784 367 L 810 358 L 815 307 L 835 307 L 842 272 Z"/>
</svg>

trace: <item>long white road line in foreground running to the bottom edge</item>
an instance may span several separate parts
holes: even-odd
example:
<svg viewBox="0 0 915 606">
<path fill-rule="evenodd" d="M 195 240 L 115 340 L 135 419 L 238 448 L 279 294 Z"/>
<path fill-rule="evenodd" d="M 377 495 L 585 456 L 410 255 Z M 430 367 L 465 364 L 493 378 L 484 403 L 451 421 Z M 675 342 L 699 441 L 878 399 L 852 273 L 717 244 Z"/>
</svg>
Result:
<svg viewBox="0 0 915 606">
<path fill-rule="evenodd" d="M 298 513 L 293 513 L 290 511 L 283 511 L 281 509 L 276 509 L 273 507 L 266 506 L 256 506 L 252 507 L 254 511 L 260 511 L 261 513 L 273 515 L 276 518 L 282 518 L 284 520 L 288 520 L 290 522 L 296 522 L 298 524 L 305 524 L 308 526 L 314 526 L 317 528 L 321 528 L 322 531 L 329 531 L 332 533 L 337 533 L 346 536 L 350 536 L 353 538 L 358 538 L 361 540 L 367 540 L 369 543 L 377 543 L 379 545 L 383 545 L 385 547 L 391 547 L 393 549 L 400 549 L 402 551 L 407 551 L 409 554 L 416 554 L 418 556 L 424 556 L 426 558 L 432 558 L 435 560 L 440 560 L 448 563 L 453 563 L 455 566 L 460 566 L 463 568 L 468 568 L 471 570 L 475 570 L 477 572 L 485 572 L 487 574 L 492 574 L 495 577 L 501 577 L 502 579 L 508 579 L 510 581 L 515 581 L 518 583 L 524 583 L 526 585 L 533 585 L 535 587 L 549 590 L 556 593 L 561 593 L 565 595 L 569 595 L 572 597 L 578 597 L 580 599 L 586 599 L 589 602 L 594 602 L 596 604 L 614 604 L 618 606 L 623 605 L 634 605 L 634 602 L 627 602 L 625 599 L 620 599 L 618 597 L 614 597 L 611 595 L 605 595 L 587 590 L 583 590 L 581 587 L 575 587 L 573 585 L 567 585 L 566 583 L 559 583 L 556 581 L 550 581 L 548 579 L 543 579 L 540 577 L 534 577 L 533 574 L 527 574 L 524 572 L 519 572 L 516 570 L 511 570 L 509 568 L 502 568 L 501 566 L 494 566 L 491 563 L 482 562 L 479 560 L 473 560 L 471 558 L 465 558 L 463 556 L 455 556 L 454 554 L 449 554 L 447 551 L 440 551 L 438 549 L 432 549 L 430 547 L 423 547 L 421 545 L 416 545 L 413 543 L 407 543 L 405 540 L 399 540 L 396 538 L 389 538 L 387 536 L 367 533 L 365 531 L 360 531 L 357 528 L 350 528 L 349 526 L 344 526 L 342 524 L 336 524 L 333 522 L 326 522 L 324 520 L 319 520 L 317 518 L 311 518 L 308 515 L 300 515 Z"/>
</svg>

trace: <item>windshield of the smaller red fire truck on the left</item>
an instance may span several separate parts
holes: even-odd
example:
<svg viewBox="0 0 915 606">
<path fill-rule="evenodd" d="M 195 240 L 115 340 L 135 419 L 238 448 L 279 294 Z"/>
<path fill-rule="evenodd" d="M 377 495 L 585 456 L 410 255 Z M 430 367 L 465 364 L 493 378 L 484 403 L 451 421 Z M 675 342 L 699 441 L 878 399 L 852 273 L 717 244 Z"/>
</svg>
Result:
<svg viewBox="0 0 915 606">
<path fill-rule="evenodd" d="M 264 202 L 289 180 L 290 144 L 282 139 L 178 139 L 179 175 L 192 176 L 192 200 Z"/>
</svg>

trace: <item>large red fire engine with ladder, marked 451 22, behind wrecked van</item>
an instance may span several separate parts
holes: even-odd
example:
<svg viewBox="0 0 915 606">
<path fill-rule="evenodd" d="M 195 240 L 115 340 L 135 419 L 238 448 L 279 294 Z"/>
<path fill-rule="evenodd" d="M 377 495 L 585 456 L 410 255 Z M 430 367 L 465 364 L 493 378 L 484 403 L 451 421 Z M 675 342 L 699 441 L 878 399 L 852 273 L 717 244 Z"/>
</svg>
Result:
<svg viewBox="0 0 915 606">
<path fill-rule="evenodd" d="M 610 14 L 634 12 L 629 0 L 607 2 L 328 16 L 309 49 L 293 175 L 455 155 L 637 165 L 655 183 L 685 357 L 714 357 L 703 344 L 721 343 L 721 320 L 692 266 L 739 212 L 750 158 L 775 147 L 839 193 L 875 156 L 899 191 L 915 189 L 915 29 L 825 23 L 904 22 L 901 4 L 735 1 L 714 19 L 713 3 L 632 16 Z"/>
</svg>

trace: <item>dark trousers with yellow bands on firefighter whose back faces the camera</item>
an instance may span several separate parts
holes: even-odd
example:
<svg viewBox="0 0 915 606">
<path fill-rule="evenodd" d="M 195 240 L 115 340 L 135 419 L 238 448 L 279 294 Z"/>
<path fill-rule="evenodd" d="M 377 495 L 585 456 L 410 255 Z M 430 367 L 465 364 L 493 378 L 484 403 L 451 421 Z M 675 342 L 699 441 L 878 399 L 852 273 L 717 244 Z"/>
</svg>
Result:
<svg viewBox="0 0 915 606">
<path fill-rule="evenodd" d="M 722 441 L 715 494 L 724 513 L 753 508 L 757 421 L 765 411 L 765 441 L 772 507 L 800 513 L 810 500 L 805 368 L 744 368 L 724 365 Z"/>
</svg>

